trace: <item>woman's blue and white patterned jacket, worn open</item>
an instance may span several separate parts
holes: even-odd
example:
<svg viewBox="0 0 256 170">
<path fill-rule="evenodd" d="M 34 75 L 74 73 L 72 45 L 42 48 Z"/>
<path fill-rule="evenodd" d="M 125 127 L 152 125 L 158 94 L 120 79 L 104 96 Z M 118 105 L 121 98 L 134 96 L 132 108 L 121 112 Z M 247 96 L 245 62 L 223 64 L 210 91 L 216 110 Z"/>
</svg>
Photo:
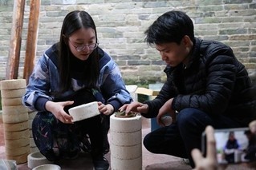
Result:
<svg viewBox="0 0 256 170">
<path fill-rule="evenodd" d="M 58 50 L 56 44 L 52 45 L 43 56 L 37 61 L 37 65 L 30 75 L 26 93 L 22 97 L 23 105 L 31 110 L 46 111 L 45 103 L 54 101 L 54 93 L 59 90 L 59 72 L 57 69 Z M 113 105 L 115 112 L 120 106 L 130 103 L 132 97 L 125 88 L 120 69 L 112 57 L 98 48 L 100 57 L 100 77 L 97 88 L 100 89 L 105 101 L 105 105 Z M 84 83 L 72 79 L 72 88 L 63 93 L 63 97 L 71 95 L 75 91 L 84 88 Z"/>
</svg>

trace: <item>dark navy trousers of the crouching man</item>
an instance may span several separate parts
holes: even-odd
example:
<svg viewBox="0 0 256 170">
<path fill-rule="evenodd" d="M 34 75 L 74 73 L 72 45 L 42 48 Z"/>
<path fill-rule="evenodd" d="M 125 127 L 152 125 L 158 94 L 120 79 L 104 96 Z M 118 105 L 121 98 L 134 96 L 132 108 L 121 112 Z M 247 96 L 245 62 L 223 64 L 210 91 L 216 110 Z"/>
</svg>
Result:
<svg viewBox="0 0 256 170">
<path fill-rule="evenodd" d="M 183 109 L 177 113 L 176 123 L 148 133 L 144 137 L 144 147 L 153 153 L 189 158 L 194 168 L 190 153 L 193 148 L 201 149 L 201 133 L 207 125 L 213 128 L 242 127 L 228 117 L 210 117 L 198 109 Z"/>
</svg>

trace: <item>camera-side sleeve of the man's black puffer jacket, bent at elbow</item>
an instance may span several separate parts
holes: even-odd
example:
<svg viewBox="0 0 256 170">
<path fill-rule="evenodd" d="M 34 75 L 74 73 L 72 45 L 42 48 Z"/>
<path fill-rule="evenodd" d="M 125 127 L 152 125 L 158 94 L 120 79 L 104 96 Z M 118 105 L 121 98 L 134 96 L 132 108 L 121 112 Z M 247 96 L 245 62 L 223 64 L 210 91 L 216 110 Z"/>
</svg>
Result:
<svg viewBox="0 0 256 170">
<path fill-rule="evenodd" d="M 204 92 L 174 97 L 173 109 L 197 108 L 212 115 L 225 112 L 234 90 L 237 70 L 242 68 L 238 68 L 238 61 L 229 47 L 216 45 L 209 49 L 203 58 L 206 70 Z"/>
</svg>

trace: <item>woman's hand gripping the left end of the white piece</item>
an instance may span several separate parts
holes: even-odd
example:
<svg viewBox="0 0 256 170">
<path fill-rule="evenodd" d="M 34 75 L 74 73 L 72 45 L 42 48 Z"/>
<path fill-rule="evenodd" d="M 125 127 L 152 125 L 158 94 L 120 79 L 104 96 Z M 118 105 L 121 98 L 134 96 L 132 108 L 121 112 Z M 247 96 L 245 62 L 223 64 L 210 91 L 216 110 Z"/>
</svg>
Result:
<svg viewBox="0 0 256 170">
<path fill-rule="evenodd" d="M 45 107 L 47 111 L 55 115 L 55 117 L 63 122 L 64 124 L 73 124 L 72 117 L 64 111 L 64 107 L 67 105 L 72 105 L 74 101 L 47 101 Z"/>
</svg>

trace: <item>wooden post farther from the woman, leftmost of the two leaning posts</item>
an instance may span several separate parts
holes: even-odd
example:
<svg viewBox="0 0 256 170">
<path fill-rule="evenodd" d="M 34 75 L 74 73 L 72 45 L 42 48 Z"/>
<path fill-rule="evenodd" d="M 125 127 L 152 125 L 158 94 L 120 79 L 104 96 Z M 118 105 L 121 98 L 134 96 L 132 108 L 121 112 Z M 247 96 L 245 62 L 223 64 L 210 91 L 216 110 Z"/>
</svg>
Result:
<svg viewBox="0 0 256 170">
<path fill-rule="evenodd" d="M 22 43 L 22 24 L 25 0 L 14 0 L 13 21 L 10 37 L 9 56 L 6 65 L 6 80 L 17 79 L 19 55 Z"/>
</svg>

